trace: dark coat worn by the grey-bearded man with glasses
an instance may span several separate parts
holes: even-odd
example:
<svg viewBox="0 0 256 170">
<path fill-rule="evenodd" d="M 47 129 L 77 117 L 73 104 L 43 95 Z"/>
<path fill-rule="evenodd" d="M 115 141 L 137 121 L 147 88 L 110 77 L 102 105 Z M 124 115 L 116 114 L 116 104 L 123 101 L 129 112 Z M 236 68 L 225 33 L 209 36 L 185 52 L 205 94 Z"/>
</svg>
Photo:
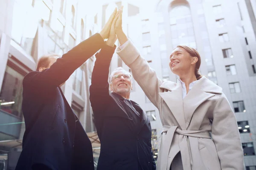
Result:
<svg viewBox="0 0 256 170">
<path fill-rule="evenodd" d="M 139 125 L 133 127 L 133 112 L 119 94 L 109 94 L 108 74 L 115 48 L 96 54 L 90 86 L 90 102 L 101 150 L 97 170 L 155 170 L 151 152 L 151 125 L 140 106 Z M 129 114 L 128 114 L 129 113 Z M 133 113 L 135 115 L 135 113 Z"/>
</svg>

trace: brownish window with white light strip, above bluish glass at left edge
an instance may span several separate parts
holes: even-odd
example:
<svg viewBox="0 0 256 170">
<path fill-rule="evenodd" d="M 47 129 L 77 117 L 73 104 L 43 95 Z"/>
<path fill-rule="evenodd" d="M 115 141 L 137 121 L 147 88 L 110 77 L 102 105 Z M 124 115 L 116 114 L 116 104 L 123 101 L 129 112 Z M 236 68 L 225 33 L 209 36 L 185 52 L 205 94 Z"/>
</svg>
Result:
<svg viewBox="0 0 256 170">
<path fill-rule="evenodd" d="M 23 75 L 8 65 L 6 66 L 0 92 L 0 110 L 21 117 L 23 78 Z"/>
</svg>

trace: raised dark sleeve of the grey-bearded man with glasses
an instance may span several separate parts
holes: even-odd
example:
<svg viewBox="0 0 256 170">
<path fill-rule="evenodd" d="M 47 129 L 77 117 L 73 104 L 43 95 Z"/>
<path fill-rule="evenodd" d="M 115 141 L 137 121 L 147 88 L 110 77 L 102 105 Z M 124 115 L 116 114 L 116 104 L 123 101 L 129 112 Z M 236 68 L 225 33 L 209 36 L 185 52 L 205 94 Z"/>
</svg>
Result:
<svg viewBox="0 0 256 170">
<path fill-rule="evenodd" d="M 92 84 L 90 85 L 90 103 L 93 113 L 103 113 L 108 106 L 111 96 L 109 96 L 108 74 L 109 66 L 116 46 L 105 45 L 96 54 L 96 61 L 92 73 Z"/>
</svg>

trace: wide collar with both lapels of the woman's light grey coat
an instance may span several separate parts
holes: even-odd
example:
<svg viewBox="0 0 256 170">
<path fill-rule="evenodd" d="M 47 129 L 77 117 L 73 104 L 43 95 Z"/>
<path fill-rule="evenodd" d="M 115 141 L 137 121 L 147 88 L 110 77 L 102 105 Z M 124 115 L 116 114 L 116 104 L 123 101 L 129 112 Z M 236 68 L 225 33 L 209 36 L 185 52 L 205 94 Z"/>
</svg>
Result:
<svg viewBox="0 0 256 170">
<path fill-rule="evenodd" d="M 199 79 L 184 99 L 182 97 L 182 85 L 180 81 L 177 83 L 170 81 L 163 82 L 160 88 L 167 90 L 167 92 L 159 93 L 159 95 L 172 111 L 182 130 L 186 130 L 189 127 L 192 115 L 199 105 L 210 97 L 215 96 L 215 94 L 222 93 L 222 88 L 206 77 Z"/>
</svg>

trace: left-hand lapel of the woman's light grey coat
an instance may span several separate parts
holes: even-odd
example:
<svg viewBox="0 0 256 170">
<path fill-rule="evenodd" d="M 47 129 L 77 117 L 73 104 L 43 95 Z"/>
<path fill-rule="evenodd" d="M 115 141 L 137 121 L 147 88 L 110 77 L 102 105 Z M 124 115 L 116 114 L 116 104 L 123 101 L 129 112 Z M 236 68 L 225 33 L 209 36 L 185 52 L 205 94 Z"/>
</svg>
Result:
<svg viewBox="0 0 256 170">
<path fill-rule="evenodd" d="M 182 99 L 182 86 L 178 82 L 174 89 L 162 86 L 160 88 L 165 88 L 171 91 L 159 93 L 159 95 L 166 102 L 168 108 L 171 110 L 173 116 L 177 120 L 182 130 L 186 129 L 184 111 L 183 111 L 183 99 Z"/>
</svg>

